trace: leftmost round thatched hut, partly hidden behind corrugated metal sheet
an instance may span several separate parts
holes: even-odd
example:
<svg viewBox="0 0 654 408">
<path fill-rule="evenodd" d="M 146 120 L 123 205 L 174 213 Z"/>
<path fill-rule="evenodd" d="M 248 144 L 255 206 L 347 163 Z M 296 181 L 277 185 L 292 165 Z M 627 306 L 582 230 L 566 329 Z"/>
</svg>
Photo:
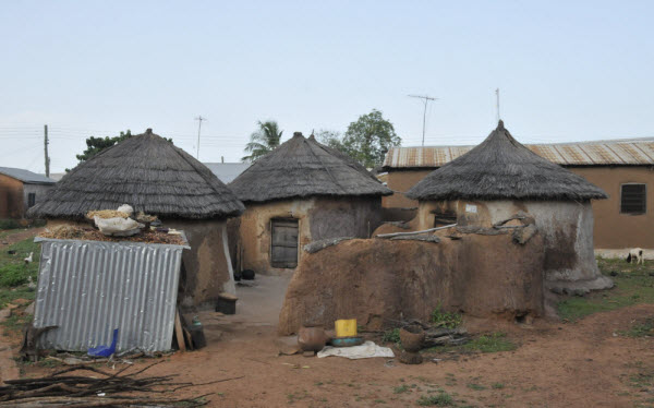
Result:
<svg viewBox="0 0 654 408">
<path fill-rule="evenodd" d="M 218 293 L 234 293 L 227 218 L 243 204 L 214 173 L 186 152 L 148 129 L 80 164 L 32 207 L 48 225 L 84 221 L 87 212 L 129 204 L 184 231 L 180 301 L 184 307 L 215 304 Z"/>
</svg>

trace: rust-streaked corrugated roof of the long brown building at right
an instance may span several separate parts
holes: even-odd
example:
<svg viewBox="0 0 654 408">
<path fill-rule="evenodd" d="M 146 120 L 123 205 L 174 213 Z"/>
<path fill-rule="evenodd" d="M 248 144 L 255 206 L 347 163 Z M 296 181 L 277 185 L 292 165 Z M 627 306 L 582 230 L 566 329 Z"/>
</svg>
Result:
<svg viewBox="0 0 654 408">
<path fill-rule="evenodd" d="M 582 143 L 528 144 L 541 157 L 561 166 L 654 165 L 654 139 Z M 474 146 L 391 147 L 385 168 L 440 167 Z"/>
</svg>

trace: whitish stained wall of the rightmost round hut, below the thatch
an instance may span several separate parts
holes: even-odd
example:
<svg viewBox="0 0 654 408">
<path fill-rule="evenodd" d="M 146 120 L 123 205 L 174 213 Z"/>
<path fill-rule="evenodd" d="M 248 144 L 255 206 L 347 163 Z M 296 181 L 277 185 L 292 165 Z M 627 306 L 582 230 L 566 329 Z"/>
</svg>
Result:
<svg viewBox="0 0 654 408">
<path fill-rule="evenodd" d="M 545 245 L 548 287 L 605 289 L 613 286 L 597 268 L 593 247 L 593 208 L 590 202 L 569 201 L 452 201 L 421 202 L 417 229 L 432 228 L 441 212 L 457 214 L 460 227 L 488 228 L 518 212 L 535 219 Z"/>
</svg>

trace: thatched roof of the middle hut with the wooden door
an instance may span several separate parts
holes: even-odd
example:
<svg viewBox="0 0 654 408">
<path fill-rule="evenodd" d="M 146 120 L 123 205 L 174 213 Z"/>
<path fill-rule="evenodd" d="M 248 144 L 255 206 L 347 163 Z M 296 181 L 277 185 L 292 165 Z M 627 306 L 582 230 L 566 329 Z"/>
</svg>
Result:
<svg viewBox="0 0 654 408">
<path fill-rule="evenodd" d="M 365 167 L 298 132 L 254 161 L 229 187 L 243 202 L 392 194 Z"/>
</svg>

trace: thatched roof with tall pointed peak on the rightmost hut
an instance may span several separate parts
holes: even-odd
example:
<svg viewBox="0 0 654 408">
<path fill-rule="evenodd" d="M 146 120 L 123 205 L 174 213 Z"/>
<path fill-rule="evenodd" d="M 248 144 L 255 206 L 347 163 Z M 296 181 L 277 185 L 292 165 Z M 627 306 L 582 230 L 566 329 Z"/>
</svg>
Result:
<svg viewBox="0 0 654 408">
<path fill-rule="evenodd" d="M 606 193 L 516 141 L 500 120 L 479 146 L 415 184 L 414 200 L 606 199 Z"/>
</svg>

